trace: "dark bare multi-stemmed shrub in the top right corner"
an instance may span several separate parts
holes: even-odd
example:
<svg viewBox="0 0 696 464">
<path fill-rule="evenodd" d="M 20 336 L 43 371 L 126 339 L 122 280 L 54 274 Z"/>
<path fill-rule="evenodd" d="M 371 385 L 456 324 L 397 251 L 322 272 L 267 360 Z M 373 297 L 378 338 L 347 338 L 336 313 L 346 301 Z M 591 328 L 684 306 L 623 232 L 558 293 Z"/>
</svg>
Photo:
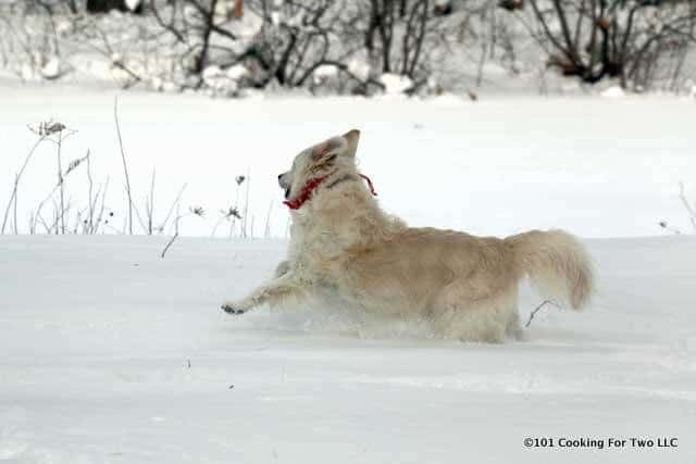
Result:
<svg viewBox="0 0 696 464">
<path fill-rule="evenodd" d="M 693 42 L 696 4 L 685 0 L 529 0 L 514 10 L 548 57 L 548 66 L 586 84 L 617 78 L 651 85 L 658 64 Z M 531 21 L 530 21 L 530 15 Z"/>
</svg>

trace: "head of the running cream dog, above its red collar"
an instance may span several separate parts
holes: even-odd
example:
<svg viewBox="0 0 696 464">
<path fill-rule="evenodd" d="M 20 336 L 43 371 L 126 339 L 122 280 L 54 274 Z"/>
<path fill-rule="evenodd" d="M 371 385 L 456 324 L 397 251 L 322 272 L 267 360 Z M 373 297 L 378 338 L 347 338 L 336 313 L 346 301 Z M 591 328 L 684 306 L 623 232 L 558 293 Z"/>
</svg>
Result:
<svg viewBox="0 0 696 464">
<path fill-rule="evenodd" d="M 295 198 L 310 179 L 337 171 L 355 172 L 359 139 L 360 130 L 352 129 L 301 151 L 295 156 L 290 171 L 278 175 L 285 198 Z"/>
</svg>

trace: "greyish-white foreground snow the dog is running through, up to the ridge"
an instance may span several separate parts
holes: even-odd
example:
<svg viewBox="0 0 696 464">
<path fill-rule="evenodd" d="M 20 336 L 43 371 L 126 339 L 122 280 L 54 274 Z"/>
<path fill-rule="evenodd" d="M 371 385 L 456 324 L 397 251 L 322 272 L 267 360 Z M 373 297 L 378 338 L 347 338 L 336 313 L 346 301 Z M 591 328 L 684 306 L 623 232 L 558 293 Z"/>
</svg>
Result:
<svg viewBox="0 0 696 464">
<path fill-rule="evenodd" d="M 281 240 L 0 237 L 0 461 L 686 463 L 696 238 L 587 242 L 599 289 L 525 340 L 459 343 L 330 309 L 219 303 Z M 522 315 L 538 303 L 525 289 Z M 384 324 L 384 323 L 383 323 Z M 190 367 L 189 367 L 190 362 Z M 525 449 L 526 437 L 679 439 Z"/>
</svg>

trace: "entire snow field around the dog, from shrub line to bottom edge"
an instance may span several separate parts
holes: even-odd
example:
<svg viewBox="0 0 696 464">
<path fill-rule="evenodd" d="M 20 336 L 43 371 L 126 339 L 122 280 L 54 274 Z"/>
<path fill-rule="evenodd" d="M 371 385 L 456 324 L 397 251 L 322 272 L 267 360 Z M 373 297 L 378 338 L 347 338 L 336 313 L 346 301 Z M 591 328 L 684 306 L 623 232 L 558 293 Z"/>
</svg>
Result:
<svg viewBox="0 0 696 464">
<path fill-rule="evenodd" d="M 91 150 L 122 218 L 112 104 L 103 90 L 0 87 L 0 206 L 34 140 L 26 124 L 53 117 L 79 130 L 64 160 Z M 183 205 L 208 213 L 182 233 L 202 237 L 161 259 L 166 235 L 0 236 L 0 463 L 696 462 L 696 237 L 657 226 L 688 231 L 676 193 L 679 180 L 696 185 L 694 100 L 134 92 L 120 106 L 137 198 L 153 166 L 160 210 L 188 183 Z M 277 173 L 353 126 L 382 204 L 410 224 L 585 237 L 598 271 L 591 308 L 545 308 L 504 346 L 339 309 L 220 311 L 285 249 L 210 237 L 234 176 L 251 175 L 256 235 L 273 202 L 283 237 Z M 20 217 L 52 188 L 52 153 L 45 146 L 27 168 Z M 523 289 L 523 322 L 539 301 Z M 632 437 L 678 448 L 607 449 Z"/>
</svg>

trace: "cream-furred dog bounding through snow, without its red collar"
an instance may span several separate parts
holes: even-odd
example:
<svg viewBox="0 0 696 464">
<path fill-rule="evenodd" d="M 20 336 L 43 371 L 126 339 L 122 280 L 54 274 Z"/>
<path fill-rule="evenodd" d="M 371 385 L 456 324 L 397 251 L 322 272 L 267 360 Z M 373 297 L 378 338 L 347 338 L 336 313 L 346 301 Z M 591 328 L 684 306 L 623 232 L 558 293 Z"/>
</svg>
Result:
<svg viewBox="0 0 696 464">
<path fill-rule="evenodd" d="M 519 329 L 518 284 L 529 276 L 548 299 L 581 309 L 593 289 L 589 259 L 561 230 L 505 239 L 409 228 L 383 212 L 359 177 L 351 130 L 302 151 L 278 176 L 286 197 L 328 177 L 293 212 L 288 260 L 275 278 L 223 305 L 240 314 L 263 303 L 326 294 L 368 312 L 421 316 L 440 335 L 502 342 Z"/>
</svg>

